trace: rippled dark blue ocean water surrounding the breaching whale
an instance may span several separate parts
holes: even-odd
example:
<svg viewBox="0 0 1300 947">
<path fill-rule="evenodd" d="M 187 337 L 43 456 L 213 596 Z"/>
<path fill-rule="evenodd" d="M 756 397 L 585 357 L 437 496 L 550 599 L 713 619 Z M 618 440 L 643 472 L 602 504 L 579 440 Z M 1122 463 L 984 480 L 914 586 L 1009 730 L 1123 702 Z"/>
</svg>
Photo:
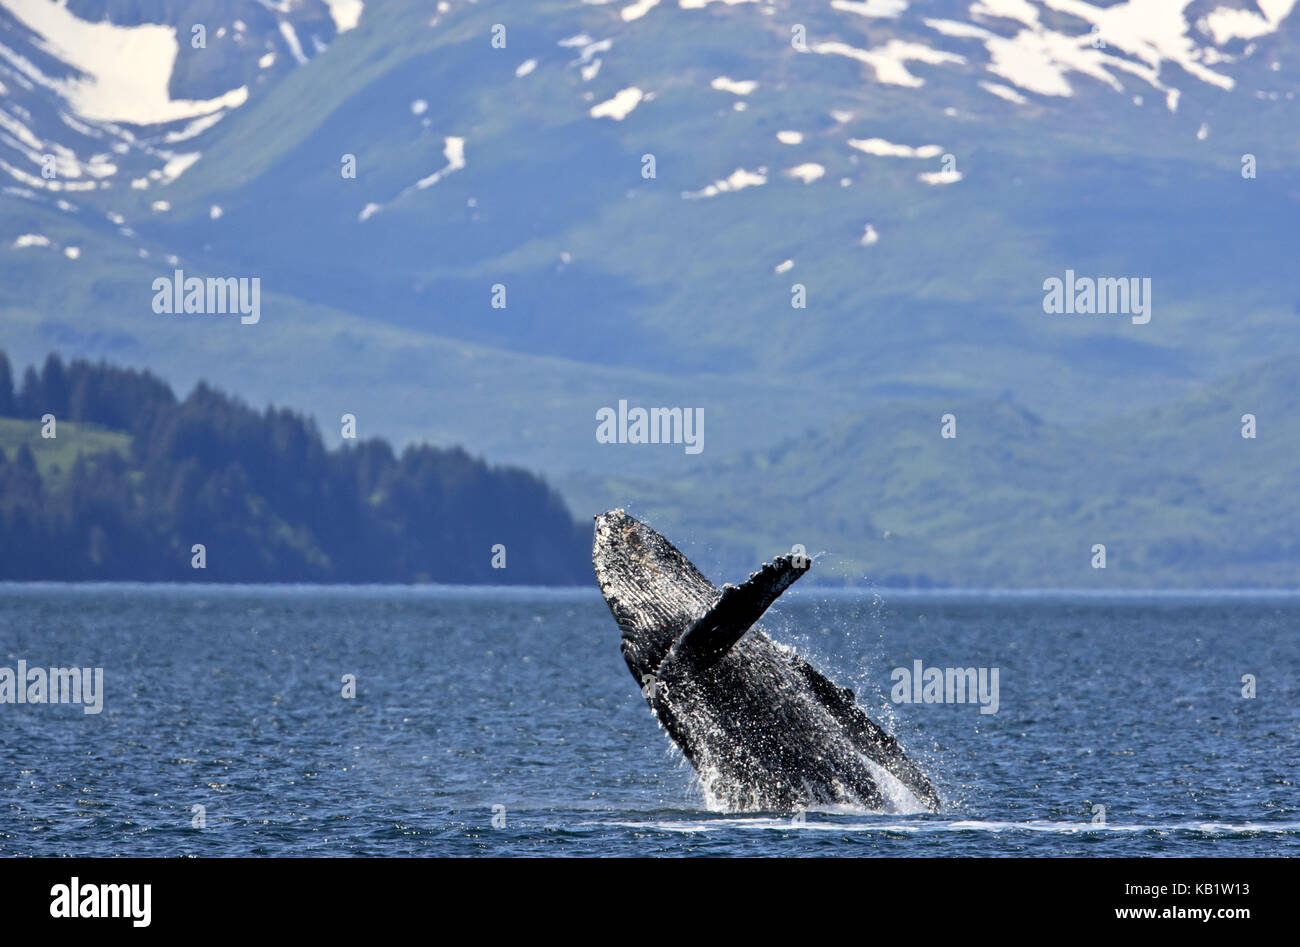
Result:
<svg viewBox="0 0 1300 947">
<path fill-rule="evenodd" d="M 104 669 L 99 714 L 0 704 L 0 853 L 1300 855 L 1300 596 L 803 588 L 763 626 L 942 812 L 712 810 L 595 591 L 0 585 L 0 666 Z M 996 667 L 997 713 L 896 704 L 916 660 Z"/>
</svg>

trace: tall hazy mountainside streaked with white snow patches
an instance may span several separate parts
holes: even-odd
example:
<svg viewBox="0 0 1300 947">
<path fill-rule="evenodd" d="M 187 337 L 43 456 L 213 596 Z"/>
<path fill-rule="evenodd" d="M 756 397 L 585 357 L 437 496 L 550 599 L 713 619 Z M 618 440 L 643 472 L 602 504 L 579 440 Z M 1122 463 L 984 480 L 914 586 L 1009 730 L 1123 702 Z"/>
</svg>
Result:
<svg viewBox="0 0 1300 947">
<path fill-rule="evenodd" d="M 1300 353 L 1290 0 L 0 7 L 16 358 L 352 412 L 580 515 L 896 405 L 1072 429 Z M 259 278 L 260 320 L 156 313 L 176 269 Z M 1044 312 L 1067 272 L 1150 320 Z M 619 401 L 702 410 L 703 451 L 601 444 Z"/>
</svg>

